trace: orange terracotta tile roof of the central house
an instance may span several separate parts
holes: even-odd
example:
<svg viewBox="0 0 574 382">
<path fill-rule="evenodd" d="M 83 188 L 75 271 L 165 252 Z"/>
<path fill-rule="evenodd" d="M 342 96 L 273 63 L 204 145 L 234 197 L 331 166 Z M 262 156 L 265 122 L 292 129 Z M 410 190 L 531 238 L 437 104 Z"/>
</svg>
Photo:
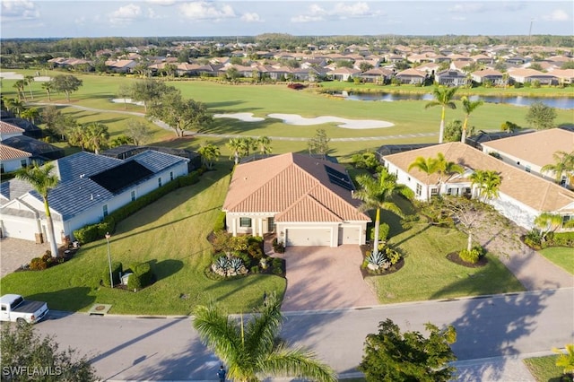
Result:
<svg viewBox="0 0 574 382">
<path fill-rule="evenodd" d="M 276 213 L 275 221 L 370 221 L 352 192 L 329 181 L 325 167 L 344 167 L 286 153 L 237 166 L 223 204 L 232 213 Z"/>
</svg>

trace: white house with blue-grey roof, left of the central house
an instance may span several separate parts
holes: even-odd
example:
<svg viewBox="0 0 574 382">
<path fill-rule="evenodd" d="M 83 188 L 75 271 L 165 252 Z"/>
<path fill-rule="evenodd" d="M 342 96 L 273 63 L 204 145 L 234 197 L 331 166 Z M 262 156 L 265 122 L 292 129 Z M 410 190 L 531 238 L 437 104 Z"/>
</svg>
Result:
<svg viewBox="0 0 574 382">
<path fill-rule="evenodd" d="M 101 221 L 175 178 L 187 174 L 187 159 L 145 151 L 122 161 L 77 152 L 54 161 L 60 179 L 48 194 L 57 242 L 74 239 L 74 230 Z M 4 237 L 48 238 L 44 204 L 28 183 L 11 179 L 0 184 L 1 230 Z"/>
</svg>

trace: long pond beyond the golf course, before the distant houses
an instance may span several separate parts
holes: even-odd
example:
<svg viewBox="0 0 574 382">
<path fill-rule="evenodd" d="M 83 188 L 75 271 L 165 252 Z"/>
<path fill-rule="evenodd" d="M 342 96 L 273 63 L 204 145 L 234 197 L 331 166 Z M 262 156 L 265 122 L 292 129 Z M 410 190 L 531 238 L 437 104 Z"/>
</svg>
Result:
<svg viewBox="0 0 574 382">
<path fill-rule="evenodd" d="M 396 93 L 352 93 L 352 92 L 338 92 L 334 93 L 342 95 L 346 100 L 382 100 L 393 102 L 396 100 L 432 100 L 432 94 L 396 94 Z M 544 105 L 556 109 L 574 109 L 574 98 L 559 97 L 559 98 L 544 98 L 544 97 L 501 97 L 501 96 L 470 96 L 469 100 L 483 100 L 489 103 L 506 103 L 515 106 L 530 106 L 535 102 L 543 102 Z"/>
</svg>

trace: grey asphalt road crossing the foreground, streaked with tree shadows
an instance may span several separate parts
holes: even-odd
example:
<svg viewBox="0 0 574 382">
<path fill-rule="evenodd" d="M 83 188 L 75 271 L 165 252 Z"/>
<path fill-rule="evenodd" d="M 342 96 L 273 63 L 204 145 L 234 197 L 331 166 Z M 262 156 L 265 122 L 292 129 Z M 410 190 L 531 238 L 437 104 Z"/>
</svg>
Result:
<svg viewBox="0 0 574 382">
<path fill-rule="evenodd" d="M 404 330 L 422 333 L 426 322 L 454 325 L 457 343 L 453 349 L 465 363 L 549 352 L 552 347 L 574 343 L 573 313 L 572 288 L 528 291 L 362 309 L 286 312 L 282 336 L 317 352 L 340 374 L 350 374 L 361 362 L 366 335 L 377 332 L 378 322 L 386 318 Z M 219 360 L 199 342 L 191 322 L 190 317 L 52 312 L 37 329 L 55 335 L 61 349 L 70 346 L 88 354 L 100 378 L 106 380 L 215 380 Z M 504 361 L 494 368 L 490 367 L 489 376 L 497 379 Z M 474 367 L 474 377 L 481 372 L 480 366 Z M 460 373 L 464 376 L 465 370 Z"/>
</svg>

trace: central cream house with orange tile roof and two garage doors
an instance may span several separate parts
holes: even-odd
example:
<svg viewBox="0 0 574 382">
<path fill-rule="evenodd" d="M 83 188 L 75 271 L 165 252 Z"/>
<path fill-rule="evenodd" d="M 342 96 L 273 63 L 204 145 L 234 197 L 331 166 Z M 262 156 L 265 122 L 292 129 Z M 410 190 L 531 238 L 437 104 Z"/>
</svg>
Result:
<svg viewBox="0 0 574 382">
<path fill-rule="evenodd" d="M 370 218 L 353 192 L 343 166 L 290 152 L 239 164 L 222 210 L 233 235 L 274 232 L 285 246 L 361 245 Z"/>
</svg>

